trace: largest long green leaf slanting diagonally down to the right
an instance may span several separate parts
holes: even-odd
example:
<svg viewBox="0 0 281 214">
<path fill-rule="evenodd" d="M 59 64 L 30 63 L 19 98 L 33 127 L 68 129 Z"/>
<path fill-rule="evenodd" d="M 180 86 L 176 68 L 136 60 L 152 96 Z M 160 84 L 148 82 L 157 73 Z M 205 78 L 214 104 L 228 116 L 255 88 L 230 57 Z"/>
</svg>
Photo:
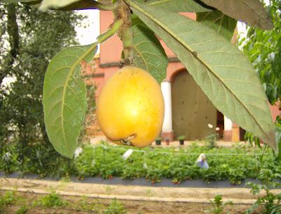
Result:
<svg viewBox="0 0 281 214">
<path fill-rule="evenodd" d="M 277 149 L 275 127 L 259 77 L 237 47 L 183 15 L 136 1 L 126 3 L 176 53 L 218 111 Z"/>
</svg>

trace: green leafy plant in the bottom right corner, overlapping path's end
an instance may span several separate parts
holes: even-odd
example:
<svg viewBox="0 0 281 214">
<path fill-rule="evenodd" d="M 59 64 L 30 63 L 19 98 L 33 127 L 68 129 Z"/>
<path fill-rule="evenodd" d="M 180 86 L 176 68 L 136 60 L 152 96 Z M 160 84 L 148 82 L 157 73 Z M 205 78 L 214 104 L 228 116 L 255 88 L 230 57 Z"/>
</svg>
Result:
<svg viewBox="0 0 281 214">
<path fill-rule="evenodd" d="M 262 214 L 279 214 L 281 213 L 281 194 L 273 194 L 271 188 L 281 187 L 279 182 L 276 182 L 275 175 L 272 170 L 263 169 L 259 173 L 259 180 L 261 184 L 247 183 L 251 187 L 251 194 L 259 194 L 261 190 L 266 192 L 265 196 L 259 196 L 253 206 L 247 210 L 247 214 L 254 213 L 254 211 L 263 206 Z"/>
</svg>

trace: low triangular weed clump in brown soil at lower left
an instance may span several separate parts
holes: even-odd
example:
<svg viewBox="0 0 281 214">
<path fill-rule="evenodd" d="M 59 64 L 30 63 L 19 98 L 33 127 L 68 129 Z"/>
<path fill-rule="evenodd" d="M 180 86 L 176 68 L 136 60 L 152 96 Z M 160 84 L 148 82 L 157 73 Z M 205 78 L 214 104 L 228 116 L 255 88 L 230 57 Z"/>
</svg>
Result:
<svg viewBox="0 0 281 214">
<path fill-rule="evenodd" d="M 61 206 L 67 206 L 68 202 L 63 200 L 55 191 L 51 192 L 46 196 L 41 197 L 34 202 L 36 206 L 45 206 L 47 208 L 58 208 Z"/>
</svg>

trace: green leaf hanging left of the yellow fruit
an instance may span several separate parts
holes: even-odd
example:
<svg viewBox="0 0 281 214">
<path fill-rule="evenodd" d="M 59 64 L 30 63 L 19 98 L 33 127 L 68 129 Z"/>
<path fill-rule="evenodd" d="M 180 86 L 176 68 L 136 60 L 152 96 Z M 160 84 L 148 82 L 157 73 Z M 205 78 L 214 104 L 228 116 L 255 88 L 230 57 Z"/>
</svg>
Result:
<svg viewBox="0 0 281 214">
<path fill-rule="evenodd" d="M 95 46 L 94 46 L 95 47 Z M 55 150 L 72 158 L 87 109 L 81 60 L 96 53 L 93 45 L 72 46 L 57 53 L 44 79 L 43 105 L 46 132 Z"/>
</svg>

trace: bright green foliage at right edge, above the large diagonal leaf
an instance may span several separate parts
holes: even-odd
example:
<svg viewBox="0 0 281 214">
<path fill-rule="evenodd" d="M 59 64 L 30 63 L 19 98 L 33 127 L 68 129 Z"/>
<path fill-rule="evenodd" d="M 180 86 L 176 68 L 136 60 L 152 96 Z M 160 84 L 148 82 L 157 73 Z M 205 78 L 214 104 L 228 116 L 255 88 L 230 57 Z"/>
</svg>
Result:
<svg viewBox="0 0 281 214">
<path fill-rule="evenodd" d="M 248 27 L 246 37 L 242 37 L 239 44 L 259 74 L 268 101 L 274 104 L 281 98 L 280 0 L 269 1 L 268 10 L 273 18 L 273 29 Z"/>
</svg>

